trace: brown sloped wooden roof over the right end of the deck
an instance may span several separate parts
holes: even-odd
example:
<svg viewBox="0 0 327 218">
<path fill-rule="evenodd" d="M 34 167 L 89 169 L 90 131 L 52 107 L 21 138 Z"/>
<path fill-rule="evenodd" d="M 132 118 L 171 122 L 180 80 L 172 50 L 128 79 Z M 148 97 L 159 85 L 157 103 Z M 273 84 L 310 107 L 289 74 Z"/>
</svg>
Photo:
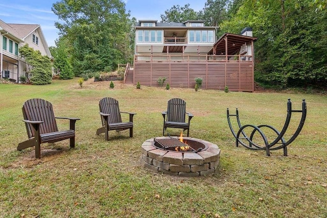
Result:
<svg viewBox="0 0 327 218">
<path fill-rule="evenodd" d="M 226 41 L 227 41 L 227 55 L 236 54 L 244 43 L 255 41 L 256 37 L 237 35 L 232 33 L 223 34 L 214 44 L 213 48 L 216 48 L 216 51 L 213 52 L 211 49 L 208 54 L 226 54 Z"/>
</svg>

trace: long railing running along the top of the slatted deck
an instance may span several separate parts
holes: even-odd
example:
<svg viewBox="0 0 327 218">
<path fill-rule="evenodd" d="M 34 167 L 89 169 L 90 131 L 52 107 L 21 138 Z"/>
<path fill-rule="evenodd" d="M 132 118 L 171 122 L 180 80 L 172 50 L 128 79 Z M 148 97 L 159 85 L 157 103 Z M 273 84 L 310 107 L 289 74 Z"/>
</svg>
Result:
<svg viewBox="0 0 327 218">
<path fill-rule="evenodd" d="M 134 55 L 134 62 L 239 62 L 252 61 L 252 55 Z"/>
</svg>

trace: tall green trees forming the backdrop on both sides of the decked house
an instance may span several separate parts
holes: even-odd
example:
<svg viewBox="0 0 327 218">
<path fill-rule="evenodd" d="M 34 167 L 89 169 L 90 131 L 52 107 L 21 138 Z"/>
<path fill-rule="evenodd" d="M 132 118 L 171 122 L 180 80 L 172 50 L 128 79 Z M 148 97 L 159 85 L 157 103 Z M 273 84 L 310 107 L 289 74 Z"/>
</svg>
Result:
<svg viewBox="0 0 327 218">
<path fill-rule="evenodd" d="M 63 79 L 132 61 L 136 19 L 122 0 L 61 0 L 52 10 L 60 20 L 60 38 L 51 52 Z M 162 22 L 206 20 L 207 26 L 219 27 L 218 36 L 251 27 L 258 37 L 258 82 L 302 86 L 327 80 L 326 0 L 207 0 L 200 11 L 174 5 L 160 17 Z"/>
</svg>

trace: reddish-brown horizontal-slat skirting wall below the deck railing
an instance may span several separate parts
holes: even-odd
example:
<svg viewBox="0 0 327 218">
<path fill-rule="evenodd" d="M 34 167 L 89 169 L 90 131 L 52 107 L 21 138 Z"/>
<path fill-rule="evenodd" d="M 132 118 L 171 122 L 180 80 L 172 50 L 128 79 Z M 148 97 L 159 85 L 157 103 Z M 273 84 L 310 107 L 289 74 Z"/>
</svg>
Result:
<svg viewBox="0 0 327 218">
<path fill-rule="evenodd" d="M 166 77 L 172 88 L 194 88 L 200 77 L 202 89 L 253 92 L 253 62 L 135 62 L 134 84 L 158 86 L 158 78 Z"/>
</svg>

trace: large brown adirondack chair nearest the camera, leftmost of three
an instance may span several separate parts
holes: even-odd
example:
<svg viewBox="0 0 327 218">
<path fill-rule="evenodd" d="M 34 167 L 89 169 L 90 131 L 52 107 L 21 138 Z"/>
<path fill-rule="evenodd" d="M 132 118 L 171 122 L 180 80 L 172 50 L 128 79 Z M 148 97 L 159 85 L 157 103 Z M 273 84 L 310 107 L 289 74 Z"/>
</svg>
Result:
<svg viewBox="0 0 327 218">
<path fill-rule="evenodd" d="M 35 146 L 35 158 L 40 158 L 42 143 L 54 143 L 70 139 L 70 146 L 75 147 L 75 122 L 79 118 L 55 117 L 49 101 L 33 98 L 22 106 L 22 115 L 29 140 L 21 142 L 17 150 Z M 58 131 L 56 119 L 68 119 L 69 130 Z"/>
</svg>

